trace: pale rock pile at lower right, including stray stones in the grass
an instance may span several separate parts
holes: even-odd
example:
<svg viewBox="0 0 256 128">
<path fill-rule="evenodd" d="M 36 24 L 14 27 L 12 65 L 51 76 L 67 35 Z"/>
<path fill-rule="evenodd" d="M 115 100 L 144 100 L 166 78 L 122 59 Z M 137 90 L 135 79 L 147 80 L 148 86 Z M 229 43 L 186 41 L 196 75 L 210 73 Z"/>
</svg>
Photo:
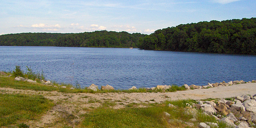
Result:
<svg viewBox="0 0 256 128">
<path fill-rule="evenodd" d="M 202 110 L 202 114 L 213 116 L 218 122 L 227 124 L 228 128 L 255 128 L 256 127 L 256 94 L 254 96 L 242 95 L 230 100 L 211 100 L 211 101 L 198 101 L 198 104 L 186 103 L 184 114 L 191 115 L 192 118 L 186 121 L 179 120 L 183 124 L 194 126 L 198 117 L 198 110 Z M 173 104 L 168 104 L 170 108 L 176 108 Z M 164 112 L 166 117 L 170 116 Z M 170 119 L 168 122 L 175 120 Z M 216 122 L 200 122 L 199 128 L 218 128 Z"/>
</svg>

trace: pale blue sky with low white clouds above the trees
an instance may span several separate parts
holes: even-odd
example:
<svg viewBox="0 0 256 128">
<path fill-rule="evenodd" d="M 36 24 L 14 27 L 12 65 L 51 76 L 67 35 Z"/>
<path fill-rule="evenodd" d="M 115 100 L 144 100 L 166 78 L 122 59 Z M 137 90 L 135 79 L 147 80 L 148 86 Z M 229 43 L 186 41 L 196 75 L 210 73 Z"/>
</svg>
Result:
<svg viewBox="0 0 256 128">
<path fill-rule="evenodd" d="M 1 0 L 0 35 L 95 30 L 153 33 L 211 20 L 256 17 L 256 0 Z"/>
</svg>

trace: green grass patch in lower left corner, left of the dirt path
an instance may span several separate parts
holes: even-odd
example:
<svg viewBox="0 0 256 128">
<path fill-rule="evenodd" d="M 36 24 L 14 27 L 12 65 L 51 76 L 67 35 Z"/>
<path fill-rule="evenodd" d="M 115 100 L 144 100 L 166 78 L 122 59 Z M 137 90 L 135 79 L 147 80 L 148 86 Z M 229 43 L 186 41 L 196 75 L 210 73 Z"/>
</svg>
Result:
<svg viewBox="0 0 256 128">
<path fill-rule="evenodd" d="M 0 126 L 36 120 L 54 104 L 43 96 L 0 94 Z"/>
</svg>

